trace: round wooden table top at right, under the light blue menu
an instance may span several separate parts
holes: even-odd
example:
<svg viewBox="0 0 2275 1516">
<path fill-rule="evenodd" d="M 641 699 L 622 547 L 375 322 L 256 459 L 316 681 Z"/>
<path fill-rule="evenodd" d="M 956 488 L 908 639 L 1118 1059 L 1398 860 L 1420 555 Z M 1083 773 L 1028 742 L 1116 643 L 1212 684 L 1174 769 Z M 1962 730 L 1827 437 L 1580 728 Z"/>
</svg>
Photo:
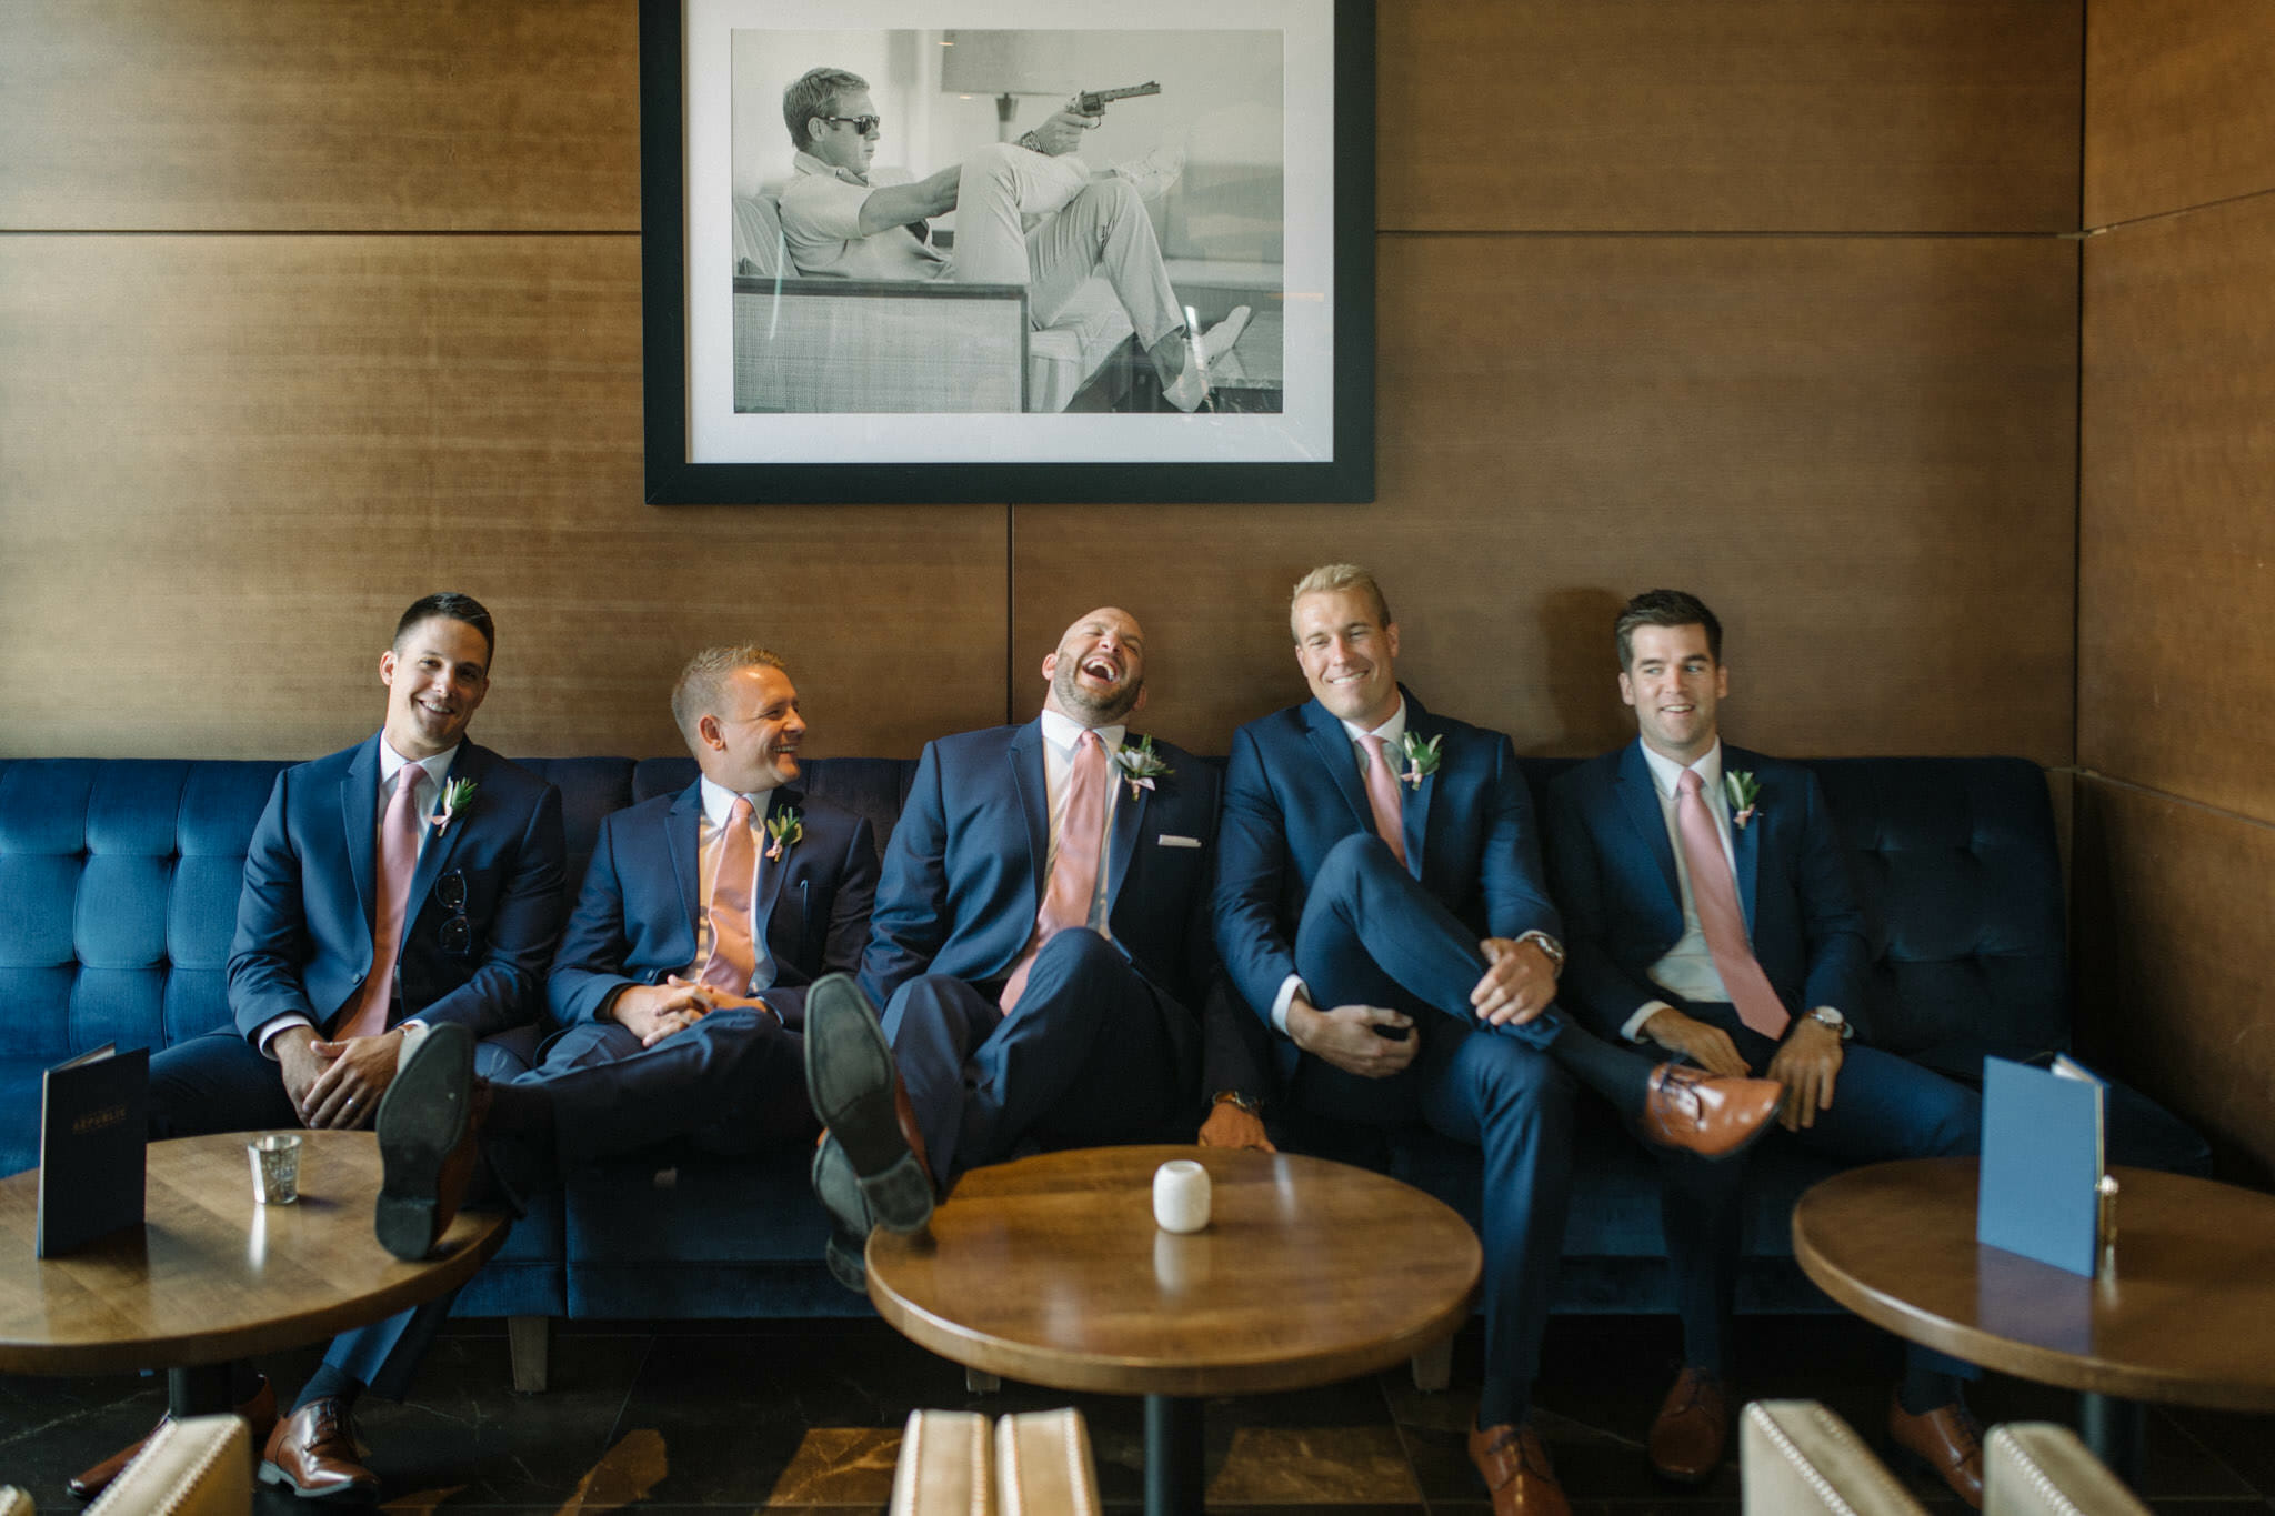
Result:
<svg viewBox="0 0 2275 1516">
<path fill-rule="evenodd" d="M 1975 1159 L 1852 1168 L 1793 1209 L 1793 1252 L 1866 1321 L 2043 1384 L 2275 1411 L 2275 1196 L 2118 1177 L 2116 1273 L 1975 1241 Z"/>
</svg>

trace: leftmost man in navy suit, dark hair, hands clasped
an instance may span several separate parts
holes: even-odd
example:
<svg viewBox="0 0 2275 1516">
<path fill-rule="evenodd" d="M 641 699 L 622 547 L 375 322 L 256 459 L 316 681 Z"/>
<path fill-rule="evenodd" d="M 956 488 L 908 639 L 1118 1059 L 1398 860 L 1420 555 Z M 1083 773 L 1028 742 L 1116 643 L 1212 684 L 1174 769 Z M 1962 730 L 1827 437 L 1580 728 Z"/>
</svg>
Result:
<svg viewBox="0 0 2275 1516">
<path fill-rule="evenodd" d="M 464 739 L 494 648 L 480 602 L 425 595 L 380 655 L 387 725 L 278 775 L 237 907 L 237 1025 L 150 1061 L 152 1136 L 369 1125 L 405 1039 L 455 1027 L 471 1041 L 535 1016 L 560 932 L 562 807 L 551 784 Z M 394 850 L 387 818 L 403 823 Z M 387 921 L 394 932 L 378 932 Z M 519 1068 L 496 1046 L 485 1059 Z M 371 1486 L 348 1409 L 366 1386 L 400 1396 L 446 1311 L 448 1300 L 334 1339 L 282 1421 L 268 1384 L 232 1366 L 237 1409 L 266 1436 L 264 1477 L 303 1496 Z M 100 1491 L 132 1452 L 73 1480 L 73 1493 Z"/>
</svg>

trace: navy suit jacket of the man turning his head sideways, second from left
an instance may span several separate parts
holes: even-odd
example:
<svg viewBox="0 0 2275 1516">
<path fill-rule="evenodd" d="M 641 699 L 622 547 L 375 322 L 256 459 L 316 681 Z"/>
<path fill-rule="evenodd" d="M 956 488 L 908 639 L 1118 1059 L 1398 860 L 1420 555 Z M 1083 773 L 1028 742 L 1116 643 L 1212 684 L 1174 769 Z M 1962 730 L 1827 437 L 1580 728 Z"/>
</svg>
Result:
<svg viewBox="0 0 2275 1516">
<path fill-rule="evenodd" d="M 796 786 L 774 798 L 774 816 L 799 809 L 803 839 L 780 859 L 758 861 L 758 914 L 767 921 L 774 986 L 767 1005 L 789 1027 L 805 1025 L 805 986 L 826 973 L 860 968 L 876 898 L 876 839 L 869 823 Z M 696 836 L 703 782 L 655 796 L 601 823 L 562 950 L 546 980 L 553 1018 L 601 1021 L 630 984 L 662 984 L 696 955 L 703 909 Z"/>
</svg>

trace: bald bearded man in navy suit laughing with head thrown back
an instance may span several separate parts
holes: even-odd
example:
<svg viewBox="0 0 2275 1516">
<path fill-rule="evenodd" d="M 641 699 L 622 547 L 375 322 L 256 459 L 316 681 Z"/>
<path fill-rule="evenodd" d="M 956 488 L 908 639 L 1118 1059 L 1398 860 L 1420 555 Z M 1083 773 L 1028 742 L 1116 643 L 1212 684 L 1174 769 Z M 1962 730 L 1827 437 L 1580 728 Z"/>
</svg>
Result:
<svg viewBox="0 0 2275 1516">
<path fill-rule="evenodd" d="M 1042 677 L 1037 720 L 924 748 L 860 984 L 810 998 L 808 1089 L 830 1130 L 814 1191 L 851 1286 L 871 1225 L 915 1232 L 960 1173 L 1021 1141 L 1192 1132 L 1217 775 L 1128 732 L 1144 705 L 1128 611 L 1067 627 Z"/>
</svg>

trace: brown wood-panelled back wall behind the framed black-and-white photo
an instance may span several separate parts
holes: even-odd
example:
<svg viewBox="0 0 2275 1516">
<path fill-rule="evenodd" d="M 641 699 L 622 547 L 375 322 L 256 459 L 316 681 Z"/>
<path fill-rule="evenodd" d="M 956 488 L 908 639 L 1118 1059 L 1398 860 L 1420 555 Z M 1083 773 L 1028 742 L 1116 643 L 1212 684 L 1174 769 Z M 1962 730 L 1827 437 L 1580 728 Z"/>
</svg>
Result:
<svg viewBox="0 0 2275 1516">
<path fill-rule="evenodd" d="M 915 752 L 1101 600 L 1222 750 L 1360 557 L 1527 750 L 1620 739 L 1611 609 L 1672 582 L 1754 743 L 2068 764 L 2082 25 L 1381 0 L 1374 505 L 657 509 L 630 0 L 0 7 L 0 752 L 350 741 L 444 584 L 507 750 L 669 750 L 758 636 L 819 750 Z"/>
</svg>

